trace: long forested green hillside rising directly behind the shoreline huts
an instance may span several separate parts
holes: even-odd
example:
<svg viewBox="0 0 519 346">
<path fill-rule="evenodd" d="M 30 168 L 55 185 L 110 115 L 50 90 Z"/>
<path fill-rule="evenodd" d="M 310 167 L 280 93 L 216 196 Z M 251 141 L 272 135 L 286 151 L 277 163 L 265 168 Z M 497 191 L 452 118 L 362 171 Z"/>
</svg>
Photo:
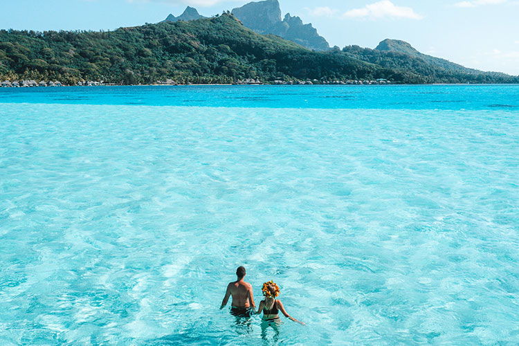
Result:
<svg viewBox="0 0 519 346">
<path fill-rule="evenodd" d="M 356 46 L 309 51 L 275 35 L 257 34 L 234 15 L 108 32 L 0 30 L 0 80 L 519 82 L 477 72 L 453 73 L 420 57 Z"/>
</svg>

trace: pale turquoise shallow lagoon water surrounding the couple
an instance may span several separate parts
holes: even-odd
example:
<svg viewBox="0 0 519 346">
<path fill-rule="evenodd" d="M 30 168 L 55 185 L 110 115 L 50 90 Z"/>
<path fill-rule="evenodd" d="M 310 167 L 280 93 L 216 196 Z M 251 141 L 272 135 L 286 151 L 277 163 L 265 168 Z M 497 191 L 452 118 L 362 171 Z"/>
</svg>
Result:
<svg viewBox="0 0 519 346">
<path fill-rule="evenodd" d="M 515 109 L 31 97 L 0 104 L 3 345 L 275 345 L 218 309 L 240 264 L 307 322 L 282 345 L 519 343 Z"/>
</svg>

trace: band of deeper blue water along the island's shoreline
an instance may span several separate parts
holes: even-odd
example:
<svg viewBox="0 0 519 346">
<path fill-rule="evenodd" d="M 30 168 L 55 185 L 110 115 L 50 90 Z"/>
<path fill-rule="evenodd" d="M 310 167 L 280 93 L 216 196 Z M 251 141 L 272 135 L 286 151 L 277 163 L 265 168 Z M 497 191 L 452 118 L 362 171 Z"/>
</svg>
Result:
<svg viewBox="0 0 519 346">
<path fill-rule="evenodd" d="M 519 85 L 0 88 L 0 102 L 319 109 L 519 110 Z"/>
</svg>

